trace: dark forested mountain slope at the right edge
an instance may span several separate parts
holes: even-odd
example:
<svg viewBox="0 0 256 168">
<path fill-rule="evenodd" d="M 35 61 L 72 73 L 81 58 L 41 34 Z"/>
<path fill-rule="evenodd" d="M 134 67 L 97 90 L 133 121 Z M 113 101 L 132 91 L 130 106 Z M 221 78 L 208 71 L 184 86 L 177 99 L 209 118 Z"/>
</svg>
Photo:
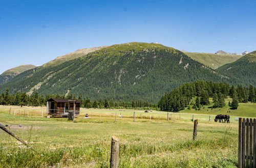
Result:
<svg viewBox="0 0 256 168">
<path fill-rule="evenodd" d="M 244 55 L 233 63 L 219 67 L 217 71 L 256 86 L 256 51 Z"/>
</svg>

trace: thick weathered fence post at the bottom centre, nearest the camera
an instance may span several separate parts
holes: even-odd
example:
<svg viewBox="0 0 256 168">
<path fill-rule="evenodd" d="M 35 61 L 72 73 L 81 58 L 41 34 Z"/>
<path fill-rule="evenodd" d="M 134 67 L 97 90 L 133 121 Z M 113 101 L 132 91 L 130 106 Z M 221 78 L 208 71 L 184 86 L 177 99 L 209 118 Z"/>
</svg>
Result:
<svg viewBox="0 0 256 168">
<path fill-rule="evenodd" d="M 118 167 L 118 156 L 119 156 L 119 139 L 116 136 L 112 136 L 111 141 L 111 157 L 110 157 L 110 167 Z"/>
</svg>

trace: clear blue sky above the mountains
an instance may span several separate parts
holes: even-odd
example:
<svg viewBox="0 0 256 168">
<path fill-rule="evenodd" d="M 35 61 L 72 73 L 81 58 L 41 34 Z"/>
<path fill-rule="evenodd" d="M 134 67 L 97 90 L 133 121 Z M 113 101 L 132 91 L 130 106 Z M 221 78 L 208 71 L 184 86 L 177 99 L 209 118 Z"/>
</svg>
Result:
<svg viewBox="0 0 256 168">
<path fill-rule="evenodd" d="M 0 0 L 0 73 L 80 48 L 158 42 L 193 52 L 256 50 L 256 1 Z"/>
</svg>

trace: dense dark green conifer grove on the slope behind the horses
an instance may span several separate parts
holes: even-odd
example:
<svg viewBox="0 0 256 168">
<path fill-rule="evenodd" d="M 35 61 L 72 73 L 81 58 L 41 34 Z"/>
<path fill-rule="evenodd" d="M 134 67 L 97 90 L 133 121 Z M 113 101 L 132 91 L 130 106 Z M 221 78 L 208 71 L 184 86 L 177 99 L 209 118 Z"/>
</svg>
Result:
<svg viewBox="0 0 256 168">
<path fill-rule="evenodd" d="M 237 88 L 229 86 L 227 83 L 211 81 L 187 82 L 179 88 L 173 89 L 169 94 L 162 96 L 158 102 L 158 107 L 163 111 L 179 111 L 182 109 L 195 108 L 200 110 L 201 106 L 209 105 L 209 98 L 212 98 L 212 108 L 225 106 L 224 98 L 231 97 L 232 102 L 228 105 L 231 109 L 237 109 L 239 102 L 256 102 L 256 88 L 252 85 Z M 196 97 L 196 100 L 193 99 Z M 194 102 L 195 100 L 195 102 Z"/>
</svg>

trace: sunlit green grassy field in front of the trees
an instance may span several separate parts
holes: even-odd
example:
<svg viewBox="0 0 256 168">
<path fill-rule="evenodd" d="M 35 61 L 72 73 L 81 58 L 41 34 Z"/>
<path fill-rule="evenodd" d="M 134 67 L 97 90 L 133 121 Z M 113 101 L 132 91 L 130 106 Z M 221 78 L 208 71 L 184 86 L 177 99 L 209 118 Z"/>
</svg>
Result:
<svg viewBox="0 0 256 168">
<path fill-rule="evenodd" d="M 240 107 L 251 109 L 248 115 L 253 117 L 255 107 L 245 105 Z M 22 115 L 14 116 L 14 110 L 20 109 L 12 106 L 9 114 L 9 106 L 0 106 L 0 122 L 10 125 L 8 129 L 34 151 L 1 130 L 0 167 L 108 167 L 112 135 L 120 139 L 119 167 L 236 167 L 238 122 L 233 118 L 246 115 L 231 111 L 235 116 L 227 124 L 213 121 L 221 110 L 195 111 L 199 125 L 193 142 L 192 111 L 188 110 L 169 113 L 169 121 L 163 111 L 135 110 L 133 122 L 134 110 L 82 108 L 81 115 L 71 122 L 41 117 L 41 110 L 46 115 L 45 107 L 23 107 Z M 82 119 L 86 113 L 91 119 Z"/>
</svg>

